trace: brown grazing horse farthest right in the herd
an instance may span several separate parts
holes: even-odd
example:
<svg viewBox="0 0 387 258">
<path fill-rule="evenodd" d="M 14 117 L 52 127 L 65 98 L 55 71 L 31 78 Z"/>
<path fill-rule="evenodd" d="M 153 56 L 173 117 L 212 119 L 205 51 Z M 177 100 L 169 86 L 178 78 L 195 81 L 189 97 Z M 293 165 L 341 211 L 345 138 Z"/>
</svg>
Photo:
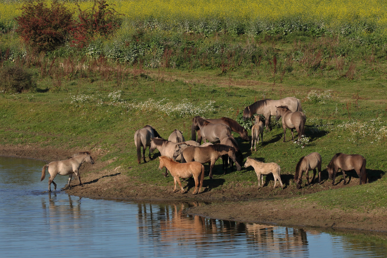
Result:
<svg viewBox="0 0 387 258">
<path fill-rule="evenodd" d="M 345 180 L 345 171 L 355 170 L 359 176 L 359 185 L 367 183 L 367 173 L 365 170 L 366 160 L 362 155 L 359 154 L 344 154 L 336 153 L 330 160 L 327 171 L 329 179 L 332 179 L 332 185 L 335 184 L 336 173 L 341 169 L 342 176 Z"/>
</svg>

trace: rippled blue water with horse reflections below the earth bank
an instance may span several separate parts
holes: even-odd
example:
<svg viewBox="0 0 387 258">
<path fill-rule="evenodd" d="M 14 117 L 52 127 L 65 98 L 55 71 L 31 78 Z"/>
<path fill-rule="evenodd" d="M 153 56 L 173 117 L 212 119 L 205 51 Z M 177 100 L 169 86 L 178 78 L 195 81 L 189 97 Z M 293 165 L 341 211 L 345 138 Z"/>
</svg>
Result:
<svg viewBox="0 0 387 258">
<path fill-rule="evenodd" d="M 206 219 L 204 203 L 94 200 L 47 190 L 45 163 L 0 156 L 1 257 L 387 257 L 358 236 Z M 67 176 L 57 176 L 58 189 Z M 53 188 L 52 188 L 53 189 Z"/>
</svg>

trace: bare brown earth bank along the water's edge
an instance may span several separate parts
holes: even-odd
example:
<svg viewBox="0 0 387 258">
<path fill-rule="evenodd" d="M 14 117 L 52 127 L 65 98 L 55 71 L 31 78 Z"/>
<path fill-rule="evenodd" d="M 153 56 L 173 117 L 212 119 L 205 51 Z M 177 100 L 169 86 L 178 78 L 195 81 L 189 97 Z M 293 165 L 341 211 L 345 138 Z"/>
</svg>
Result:
<svg viewBox="0 0 387 258">
<path fill-rule="evenodd" d="M 48 162 L 67 159 L 78 151 L 79 148 L 68 150 L 36 145 L 0 145 L 0 155 L 41 159 Z M 331 181 L 325 180 L 320 185 L 312 184 L 301 190 L 297 190 L 295 184 L 286 185 L 284 189 L 279 187 L 273 189 L 274 182 L 272 180 L 264 188 L 258 188 L 256 183 L 231 182 L 228 185 L 219 185 L 212 189 L 202 188 L 201 193 L 193 195 L 193 180 L 182 182 L 184 190 L 188 190 L 188 193 L 182 194 L 180 191 L 173 193 L 173 182 L 165 185 L 143 183 L 135 176 L 126 174 L 131 167 L 120 166 L 104 169 L 113 160 L 98 162 L 100 157 L 104 155 L 100 149 L 92 149 L 91 154 L 95 164 L 84 163 L 80 168 L 83 186 L 79 186 L 78 180 L 73 178 L 71 189 L 66 190 L 68 194 L 89 198 L 128 200 L 203 200 L 212 202 L 212 204 L 192 207 L 187 210 L 188 214 L 214 219 L 272 223 L 283 226 L 387 231 L 385 220 L 387 212 L 385 210 L 344 211 L 322 208 L 316 203 L 303 205 L 299 203 L 299 195 L 358 185 L 357 178 L 352 178 L 346 186 L 343 186 L 341 181 L 331 186 Z M 204 186 L 208 185 L 205 182 L 207 180 L 204 180 Z"/>
</svg>

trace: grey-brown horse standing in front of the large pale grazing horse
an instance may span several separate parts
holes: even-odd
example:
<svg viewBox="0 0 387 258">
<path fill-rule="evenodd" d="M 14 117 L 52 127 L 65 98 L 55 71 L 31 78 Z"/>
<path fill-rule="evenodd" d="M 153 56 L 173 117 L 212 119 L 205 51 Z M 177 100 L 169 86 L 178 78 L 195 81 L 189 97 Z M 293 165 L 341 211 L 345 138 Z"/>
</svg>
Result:
<svg viewBox="0 0 387 258">
<path fill-rule="evenodd" d="M 296 129 L 298 133 L 297 143 L 300 140 L 300 137 L 304 135 L 305 132 L 305 121 L 307 120 L 307 117 L 305 114 L 301 111 L 292 112 L 287 106 L 279 106 L 277 108 L 277 115 L 276 120 L 278 121 L 279 118 L 282 116 L 282 128 L 284 128 L 284 142 L 286 137 L 286 128 L 289 128 L 291 131 L 291 136 L 293 137 L 294 141 L 294 135 L 293 130 Z"/>
</svg>

